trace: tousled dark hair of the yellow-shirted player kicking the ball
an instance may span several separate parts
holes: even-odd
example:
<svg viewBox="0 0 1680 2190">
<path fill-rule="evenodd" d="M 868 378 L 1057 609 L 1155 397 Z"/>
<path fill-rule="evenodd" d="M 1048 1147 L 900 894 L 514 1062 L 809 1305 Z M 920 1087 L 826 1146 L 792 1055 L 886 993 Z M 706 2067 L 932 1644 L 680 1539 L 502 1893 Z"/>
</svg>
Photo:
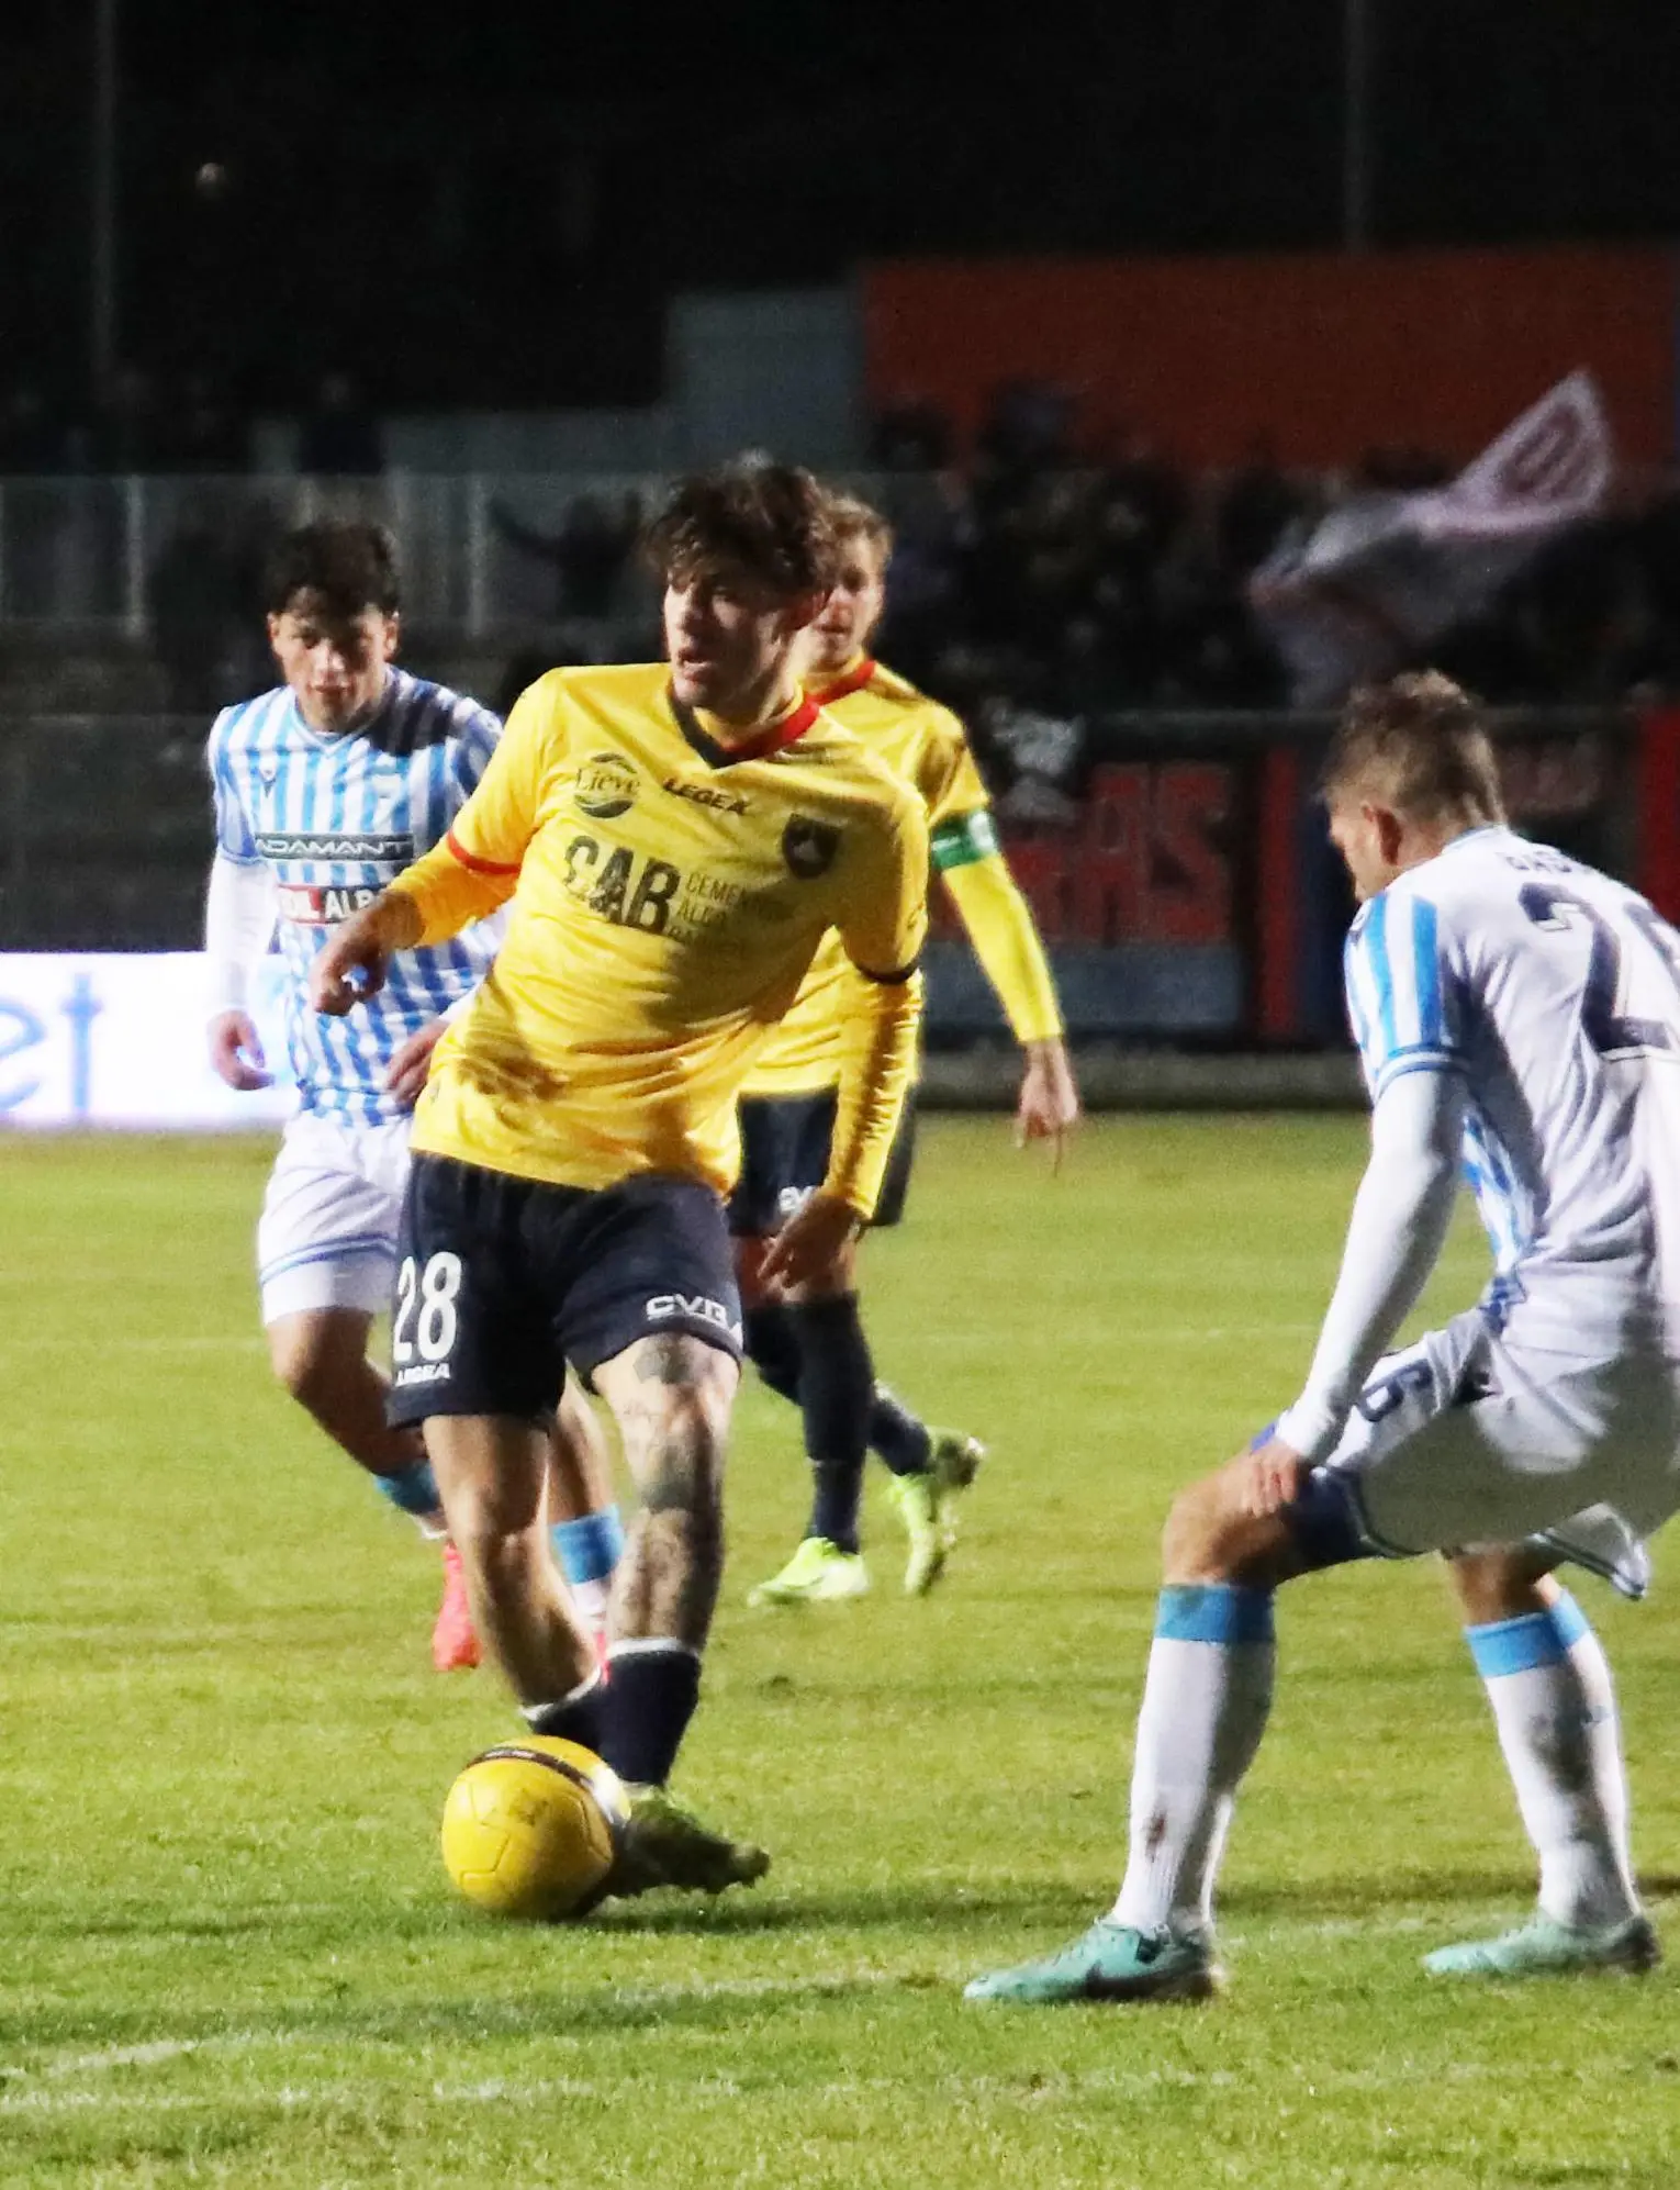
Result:
<svg viewBox="0 0 1680 2190">
<path fill-rule="evenodd" d="M 775 593 L 826 593 L 839 576 L 839 532 L 826 488 L 799 464 L 738 458 L 679 480 L 642 534 L 664 580 L 721 563 Z"/>
</svg>

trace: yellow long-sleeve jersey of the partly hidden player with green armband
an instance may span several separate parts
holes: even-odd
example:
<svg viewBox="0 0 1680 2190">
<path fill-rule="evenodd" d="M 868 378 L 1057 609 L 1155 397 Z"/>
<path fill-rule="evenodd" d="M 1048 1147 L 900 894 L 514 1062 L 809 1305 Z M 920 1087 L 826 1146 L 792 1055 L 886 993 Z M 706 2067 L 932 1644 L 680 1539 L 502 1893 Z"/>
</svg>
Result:
<svg viewBox="0 0 1680 2190">
<path fill-rule="evenodd" d="M 944 878 L 975 955 L 997 990 L 1019 1042 L 1062 1031 L 1056 981 L 1032 909 L 997 845 L 990 797 L 962 723 L 867 657 L 815 692 L 896 775 L 916 788 L 931 830 L 931 861 Z M 824 940 L 782 1025 L 753 1064 L 745 1093 L 804 1095 L 841 1075 L 841 1027 L 854 977 L 837 935 Z"/>
</svg>

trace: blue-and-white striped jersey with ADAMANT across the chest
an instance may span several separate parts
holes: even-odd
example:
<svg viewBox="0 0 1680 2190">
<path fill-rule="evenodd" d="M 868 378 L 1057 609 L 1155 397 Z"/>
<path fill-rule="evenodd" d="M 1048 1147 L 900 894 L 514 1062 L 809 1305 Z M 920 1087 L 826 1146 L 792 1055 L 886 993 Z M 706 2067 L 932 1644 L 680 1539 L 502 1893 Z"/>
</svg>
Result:
<svg viewBox="0 0 1680 2190">
<path fill-rule="evenodd" d="M 390 1058 L 495 957 L 499 924 L 482 924 L 401 950 L 386 988 L 346 1018 L 309 1007 L 309 968 L 331 929 L 449 832 L 499 729 L 477 701 L 396 668 L 372 716 L 337 736 L 311 729 L 285 685 L 217 716 L 208 751 L 217 852 L 274 874 L 287 1047 L 304 1113 L 344 1123 L 401 1117 L 386 1093 Z"/>
</svg>

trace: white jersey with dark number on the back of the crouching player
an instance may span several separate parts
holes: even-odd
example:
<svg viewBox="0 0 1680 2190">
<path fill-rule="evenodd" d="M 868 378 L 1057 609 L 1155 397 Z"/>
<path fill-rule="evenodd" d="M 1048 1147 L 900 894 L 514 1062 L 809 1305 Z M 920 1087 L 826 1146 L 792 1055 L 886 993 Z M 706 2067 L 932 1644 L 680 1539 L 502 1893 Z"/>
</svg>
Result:
<svg viewBox="0 0 1680 2190">
<path fill-rule="evenodd" d="M 1362 907 L 1347 1001 L 1371 1099 L 1461 1073 L 1485 1314 L 1533 1347 L 1680 1351 L 1680 937 L 1507 828 Z"/>
</svg>

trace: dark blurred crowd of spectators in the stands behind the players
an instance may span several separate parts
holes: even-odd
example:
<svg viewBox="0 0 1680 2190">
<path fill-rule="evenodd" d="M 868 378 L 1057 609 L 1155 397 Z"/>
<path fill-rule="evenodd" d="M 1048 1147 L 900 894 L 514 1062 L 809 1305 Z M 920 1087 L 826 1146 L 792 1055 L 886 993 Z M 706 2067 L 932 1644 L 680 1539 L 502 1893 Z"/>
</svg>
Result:
<svg viewBox="0 0 1680 2190">
<path fill-rule="evenodd" d="M 147 624 L 171 703 L 197 712 L 250 653 L 261 672 L 254 574 L 283 521 L 250 486 L 252 425 L 208 379 L 160 390 L 116 377 L 96 414 L 64 420 L 39 390 L 0 396 L 0 477 L 169 475 L 182 484 L 149 552 Z M 298 471 L 370 480 L 379 420 L 329 372 L 298 420 Z M 1303 475 L 1255 438 L 1242 464 L 1192 473 L 1146 431 L 1091 449 L 1075 403 L 1043 383 L 999 390 L 970 447 L 931 405 L 874 420 L 861 480 L 898 532 L 881 650 L 964 707 L 1008 703 L 1054 718 L 1108 710 L 1290 705 L 1255 572 L 1279 543 L 1371 491 L 1439 486 L 1426 449 L 1371 449 L 1347 473 Z M 550 659 L 646 653 L 653 600 L 637 583 L 644 515 L 631 493 L 488 504 L 497 552 L 493 622 L 528 624 Z M 46 517 L 42 517 L 46 523 Z M 28 558 L 13 556 L 7 607 L 31 613 Z M 1494 703 L 1603 703 L 1680 692 L 1680 486 L 1647 482 L 1553 541 L 1430 659 Z"/>
</svg>

